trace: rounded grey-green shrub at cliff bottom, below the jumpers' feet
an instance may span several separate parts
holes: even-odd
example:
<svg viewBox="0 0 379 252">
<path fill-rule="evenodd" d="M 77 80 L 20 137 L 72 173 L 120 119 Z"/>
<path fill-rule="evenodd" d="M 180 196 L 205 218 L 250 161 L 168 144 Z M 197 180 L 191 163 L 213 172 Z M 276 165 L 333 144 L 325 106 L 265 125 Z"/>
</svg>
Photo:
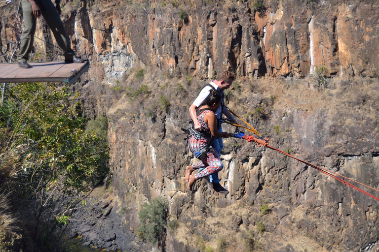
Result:
<svg viewBox="0 0 379 252">
<path fill-rule="evenodd" d="M 163 197 L 157 197 L 150 204 L 144 203 L 138 213 L 140 227 L 138 235 L 158 247 L 165 244 L 168 217 L 168 203 Z"/>
</svg>

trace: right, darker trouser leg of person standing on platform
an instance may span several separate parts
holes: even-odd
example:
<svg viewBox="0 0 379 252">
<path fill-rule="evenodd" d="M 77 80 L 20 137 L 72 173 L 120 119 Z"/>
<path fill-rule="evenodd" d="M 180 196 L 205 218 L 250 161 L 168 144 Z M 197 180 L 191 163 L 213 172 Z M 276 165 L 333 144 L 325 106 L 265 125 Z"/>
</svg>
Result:
<svg viewBox="0 0 379 252">
<path fill-rule="evenodd" d="M 72 60 L 75 56 L 75 52 L 71 48 L 70 38 L 66 33 L 57 8 L 54 6 L 51 0 L 42 0 L 41 2 L 44 7 L 42 16 L 53 32 L 55 40 L 57 41 L 59 47 L 62 48 L 62 50 L 65 52 L 65 60 Z"/>
</svg>

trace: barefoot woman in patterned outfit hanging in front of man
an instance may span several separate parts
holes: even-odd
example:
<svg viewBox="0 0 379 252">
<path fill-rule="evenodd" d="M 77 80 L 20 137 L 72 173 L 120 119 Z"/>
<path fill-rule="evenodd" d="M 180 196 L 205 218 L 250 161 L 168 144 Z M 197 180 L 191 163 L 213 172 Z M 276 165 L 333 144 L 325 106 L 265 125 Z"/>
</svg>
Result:
<svg viewBox="0 0 379 252">
<path fill-rule="evenodd" d="M 215 115 L 215 111 L 221 106 L 221 95 L 216 91 L 211 90 L 208 97 L 204 100 L 203 105 L 199 106 L 197 110 L 197 120 L 203 127 L 204 135 L 209 134 L 209 132 L 214 137 L 229 137 L 227 132 L 219 132 L 217 130 L 217 119 Z M 187 139 L 187 146 L 189 150 L 194 153 L 199 151 L 207 146 L 207 144 L 211 141 L 211 135 L 209 137 L 206 136 L 194 136 L 190 135 Z M 203 168 L 202 171 L 192 175 L 192 171 Z M 219 155 L 215 150 L 212 149 L 207 156 L 201 159 L 199 162 L 193 165 L 189 165 L 186 168 L 186 181 L 188 182 L 188 189 L 192 190 L 192 186 L 196 180 L 209 176 L 217 171 L 220 171 L 224 168 L 224 164 L 221 161 Z"/>
</svg>

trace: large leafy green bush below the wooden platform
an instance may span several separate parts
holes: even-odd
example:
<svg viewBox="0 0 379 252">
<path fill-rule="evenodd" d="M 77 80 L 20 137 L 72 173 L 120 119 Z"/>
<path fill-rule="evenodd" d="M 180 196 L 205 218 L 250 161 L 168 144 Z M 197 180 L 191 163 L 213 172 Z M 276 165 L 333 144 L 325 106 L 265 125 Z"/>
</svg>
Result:
<svg viewBox="0 0 379 252">
<path fill-rule="evenodd" d="M 68 223 L 67 214 L 80 204 L 82 192 L 109 171 L 107 135 L 85 133 L 87 119 L 80 116 L 78 95 L 68 86 L 19 84 L 8 89 L 0 109 L 0 184 L 7 185 L 0 194 L 10 194 L 14 208 L 18 199 L 28 204 L 13 211 L 25 218 L 19 223 L 30 251 L 51 248 L 49 240 Z M 60 202 L 54 220 L 51 203 L 62 195 L 66 201 Z"/>
</svg>

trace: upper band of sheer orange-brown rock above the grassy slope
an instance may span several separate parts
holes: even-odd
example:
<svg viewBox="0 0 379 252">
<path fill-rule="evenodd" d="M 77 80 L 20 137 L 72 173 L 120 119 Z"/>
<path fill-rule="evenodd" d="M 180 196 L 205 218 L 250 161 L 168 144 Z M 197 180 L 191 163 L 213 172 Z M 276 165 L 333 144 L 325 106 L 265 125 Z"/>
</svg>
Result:
<svg viewBox="0 0 379 252">
<path fill-rule="evenodd" d="M 265 1 L 258 11 L 252 4 L 94 3 L 66 26 L 75 23 L 72 38 L 84 54 L 124 52 L 192 76 L 227 67 L 241 76 L 302 77 L 320 66 L 330 75 L 378 75 L 377 2 Z"/>
</svg>

